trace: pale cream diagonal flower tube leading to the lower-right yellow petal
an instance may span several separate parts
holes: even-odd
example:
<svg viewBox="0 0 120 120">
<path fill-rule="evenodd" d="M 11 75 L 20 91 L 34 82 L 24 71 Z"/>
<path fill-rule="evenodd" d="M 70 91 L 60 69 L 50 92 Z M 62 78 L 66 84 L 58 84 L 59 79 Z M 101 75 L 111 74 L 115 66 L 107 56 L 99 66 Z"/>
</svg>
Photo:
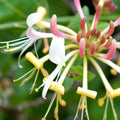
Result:
<svg viewBox="0 0 120 120">
<path fill-rule="evenodd" d="M 112 91 L 113 89 L 112 89 L 111 85 L 109 84 L 108 80 L 106 79 L 106 77 L 105 77 L 102 69 L 100 68 L 100 66 L 99 66 L 99 65 L 97 64 L 97 62 L 96 62 L 92 57 L 90 57 L 90 56 L 89 56 L 89 60 L 92 62 L 92 64 L 94 65 L 94 67 L 95 67 L 96 70 L 98 71 L 98 74 L 100 75 L 100 77 L 101 77 L 101 79 L 102 79 L 102 82 L 103 82 L 106 90 L 107 90 L 108 92 Z"/>
</svg>

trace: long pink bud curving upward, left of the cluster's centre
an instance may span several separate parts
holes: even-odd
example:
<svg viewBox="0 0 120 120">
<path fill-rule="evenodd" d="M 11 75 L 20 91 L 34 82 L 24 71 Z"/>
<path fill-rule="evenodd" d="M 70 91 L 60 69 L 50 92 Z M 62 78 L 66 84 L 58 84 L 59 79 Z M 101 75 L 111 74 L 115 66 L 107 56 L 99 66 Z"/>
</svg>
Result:
<svg viewBox="0 0 120 120">
<path fill-rule="evenodd" d="M 63 32 L 60 32 L 57 28 L 57 16 L 56 15 L 53 15 L 52 16 L 52 19 L 51 19 L 51 23 L 50 23 L 50 28 L 51 28 L 51 32 L 58 36 L 58 37 L 63 37 L 63 38 L 67 38 L 67 39 L 70 39 L 72 40 L 73 42 L 76 43 L 76 39 L 74 39 L 73 36 L 71 35 L 68 35 L 68 34 L 65 34 Z"/>
</svg>

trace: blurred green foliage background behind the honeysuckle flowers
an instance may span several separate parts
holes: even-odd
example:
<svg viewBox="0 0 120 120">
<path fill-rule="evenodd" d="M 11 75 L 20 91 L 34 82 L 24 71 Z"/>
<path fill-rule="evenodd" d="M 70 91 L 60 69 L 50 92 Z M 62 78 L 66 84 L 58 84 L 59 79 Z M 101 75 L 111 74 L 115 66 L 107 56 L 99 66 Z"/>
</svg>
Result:
<svg viewBox="0 0 120 120">
<path fill-rule="evenodd" d="M 118 9 L 114 13 L 108 14 L 107 17 L 106 15 L 101 16 L 98 29 L 103 30 L 109 25 L 110 20 L 114 21 L 120 16 L 120 1 L 114 0 L 114 3 L 118 5 Z M 47 9 L 45 20 L 50 21 L 52 14 L 56 14 L 58 16 L 59 24 L 68 26 L 76 32 L 79 31 L 80 18 L 78 14 L 75 15 L 76 9 L 72 0 L 0 0 L 0 41 L 9 41 L 26 36 L 26 18 L 29 14 L 35 12 L 38 6 L 44 6 Z M 83 0 L 82 6 L 84 6 L 84 14 L 88 18 L 88 25 L 90 25 L 95 12 L 92 0 Z M 120 27 L 117 27 L 113 37 L 120 41 L 119 36 Z M 42 44 L 42 41 L 39 41 L 37 45 L 39 48 L 39 57 L 43 56 L 43 53 L 41 52 Z M 32 48 L 33 47 L 29 48 L 27 51 L 33 51 Z M 2 49 L 0 51 L 0 120 L 40 120 L 46 113 L 53 92 L 48 92 L 46 100 L 41 97 L 42 89 L 40 89 L 38 93 L 33 91 L 30 94 L 30 88 L 34 81 L 34 77 L 23 86 L 20 86 L 21 81 L 13 83 L 14 78 L 19 78 L 21 75 L 24 75 L 33 66 L 25 60 L 23 55 L 21 64 L 24 67 L 22 69 L 18 67 L 17 60 L 20 51 L 14 53 L 4 53 Z M 115 63 L 118 59 L 118 54 L 119 51 L 117 51 L 117 54 L 113 58 Z M 112 76 L 109 72 L 110 67 L 102 63 L 99 64 L 102 66 L 103 71 L 113 88 L 120 87 L 120 75 Z M 78 65 L 80 67 L 76 69 L 76 66 Z M 49 73 L 55 68 L 50 61 L 48 61 L 45 66 Z M 69 85 L 66 85 L 67 90 L 63 98 L 67 102 L 67 106 L 59 107 L 60 120 L 73 120 L 76 113 L 80 98 L 80 96 L 76 94 L 76 88 L 78 85 L 81 85 L 82 80 L 82 60 L 80 58 L 77 59 L 73 71 L 75 69 L 80 72 L 81 76 L 77 81 L 72 78 L 66 78 L 67 84 Z M 91 64 L 89 65 L 89 71 L 93 73 L 90 72 L 89 75 L 89 88 L 98 92 L 98 96 L 95 100 L 88 98 L 90 120 L 102 120 L 105 105 L 99 107 L 97 101 L 98 98 L 104 96 L 105 89 L 99 75 Z M 36 87 L 41 83 L 42 75 L 39 74 Z M 114 103 L 119 120 L 120 98 L 115 98 Z M 55 102 L 47 116 L 47 120 L 54 120 L 54 108 Z M 86 116 L 84 119 L 86 119 Z M 114 120 L 111 105 L 109 105 L 108 108 L 107 120 Z"/>
</svg>

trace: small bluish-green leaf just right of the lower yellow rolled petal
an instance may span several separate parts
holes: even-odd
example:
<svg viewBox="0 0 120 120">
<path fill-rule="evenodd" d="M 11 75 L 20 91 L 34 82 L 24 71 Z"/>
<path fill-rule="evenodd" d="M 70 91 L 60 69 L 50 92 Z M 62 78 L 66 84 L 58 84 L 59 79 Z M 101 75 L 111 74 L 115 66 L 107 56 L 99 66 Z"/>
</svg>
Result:
<svg viewBox="0 0 120 120">
<path fill-rule="evenodd" d="M 65 91 L 68 91 L 71 88 L 73 82 L 74 82 L 73 78 L 69 78 L 69 77 L 65 78 L 65 81 L 63 83 L 63 86 L 65 87 Z"/>
</svg>

